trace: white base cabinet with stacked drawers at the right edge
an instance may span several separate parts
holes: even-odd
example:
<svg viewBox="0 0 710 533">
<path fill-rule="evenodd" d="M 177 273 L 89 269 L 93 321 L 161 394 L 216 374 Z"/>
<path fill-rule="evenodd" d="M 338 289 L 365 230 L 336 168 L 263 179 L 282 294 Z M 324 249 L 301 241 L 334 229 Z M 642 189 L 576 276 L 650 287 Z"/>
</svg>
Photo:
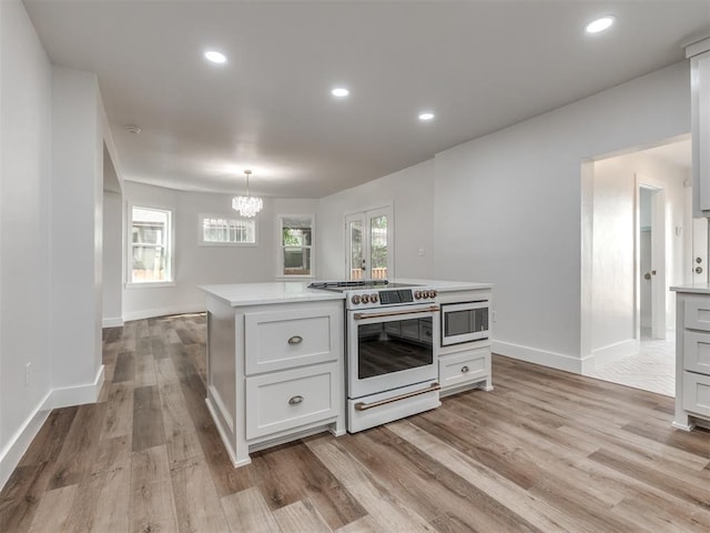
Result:
<svg viewBox="0 0 710 533">
<path fill-rule="evenodd" d="M 696 424 L 710 425 L 710 290 L 673 290 L 677 291 L 673 426 L 689 431 Z"/>
</svg>

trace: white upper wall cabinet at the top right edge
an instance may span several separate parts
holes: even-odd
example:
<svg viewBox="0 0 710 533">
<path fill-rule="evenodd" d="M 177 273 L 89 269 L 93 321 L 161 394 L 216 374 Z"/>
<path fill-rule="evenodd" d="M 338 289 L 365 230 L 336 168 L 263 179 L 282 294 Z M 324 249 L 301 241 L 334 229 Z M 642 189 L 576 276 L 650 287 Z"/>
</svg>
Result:
<svg viewBox="0 0 710 533">
<path fill-rule="evenodd" d="M 690 58 L 693 217 L 710 217 L 710 37 L 686 47 Z"/>
</svg>

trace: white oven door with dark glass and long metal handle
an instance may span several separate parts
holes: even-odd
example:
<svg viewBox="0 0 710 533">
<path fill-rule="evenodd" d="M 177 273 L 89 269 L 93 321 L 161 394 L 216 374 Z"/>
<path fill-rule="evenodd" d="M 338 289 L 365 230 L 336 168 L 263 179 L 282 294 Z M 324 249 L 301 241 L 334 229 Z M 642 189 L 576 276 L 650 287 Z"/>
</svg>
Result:
<svg viewBox="0 0 710 533">
<path fill-rule="evenodd" d="M 436 381 L 438 311 L 437 305 L 348 311 L 348 398 Z"/>
</svg>

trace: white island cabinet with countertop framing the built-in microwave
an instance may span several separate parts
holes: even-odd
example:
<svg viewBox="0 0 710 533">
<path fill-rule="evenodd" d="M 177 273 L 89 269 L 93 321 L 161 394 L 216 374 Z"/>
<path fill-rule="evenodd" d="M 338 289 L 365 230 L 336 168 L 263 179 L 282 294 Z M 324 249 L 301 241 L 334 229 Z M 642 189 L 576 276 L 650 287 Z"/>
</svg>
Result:
<svg viewBox="0 0 710 533">
<path fill-rule="evenodd" d="M 491 290 L 465 290 L 439 292 L 437 303 L 459 304 L 469 302 L 486 302 L 488 310 L 493 304 Z M 490 313 L 487 313 L 489 316 Z M 490 369 L 490 343 L 493 324 L 488 324 L 488 335 L 458 344 L 442 346 L 439 350 L 439 384 L 440 396 L 455 394 L 467 389 L 479 388 L 493 390 Z M 444 339 L 444 332 L 442 332 Z"/>
</svg>

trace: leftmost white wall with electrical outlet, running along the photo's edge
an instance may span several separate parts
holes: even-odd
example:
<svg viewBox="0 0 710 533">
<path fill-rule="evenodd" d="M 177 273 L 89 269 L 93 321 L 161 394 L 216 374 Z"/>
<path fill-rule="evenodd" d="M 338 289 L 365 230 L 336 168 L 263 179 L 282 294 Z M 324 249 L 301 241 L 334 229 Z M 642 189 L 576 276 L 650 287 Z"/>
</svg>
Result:
<svg viewBox="0 0 710 533">
<path fill-rule="evenodd" d="M 0 486 L 49 414 L 51 87 L 23 6 L 0 2 Z"/>
</svg>

